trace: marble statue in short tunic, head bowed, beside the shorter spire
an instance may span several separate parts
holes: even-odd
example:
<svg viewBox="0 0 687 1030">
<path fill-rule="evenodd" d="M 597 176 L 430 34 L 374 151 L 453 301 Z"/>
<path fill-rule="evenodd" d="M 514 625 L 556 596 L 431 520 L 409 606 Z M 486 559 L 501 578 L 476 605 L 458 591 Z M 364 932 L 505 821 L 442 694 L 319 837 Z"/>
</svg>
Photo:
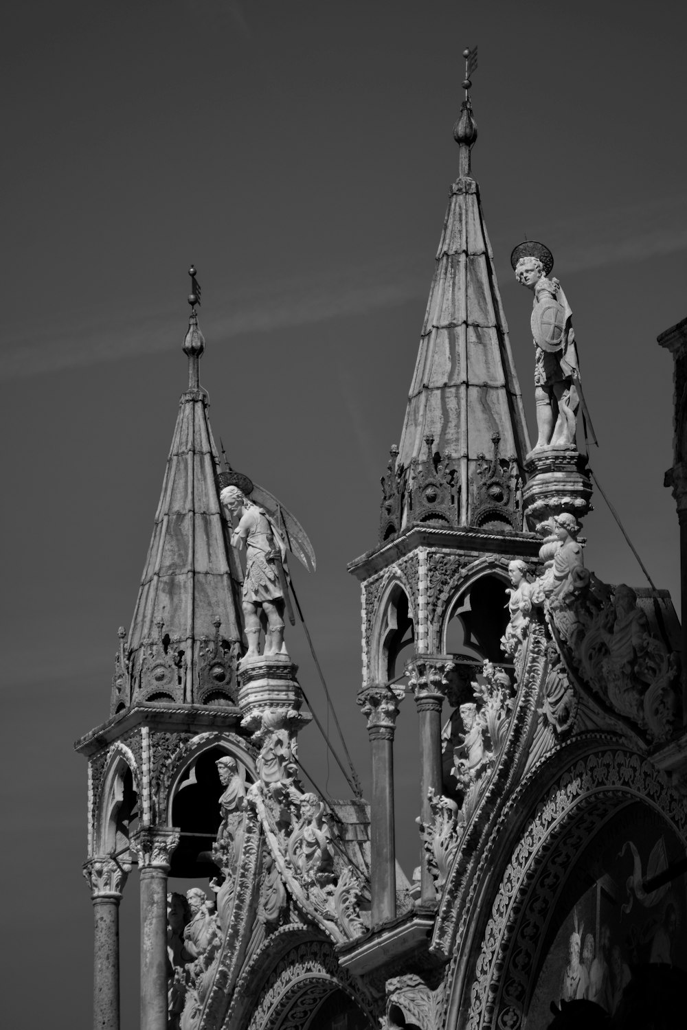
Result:
<svg viewBox="0 0 687 1030">
<path fill-rule="evenodd" d="M 242 608 L 248 650 L 244 658 L 259 656 L 261 625 L 265 629 L 264 654 L 286 654 L 283 620 L 288 590 L 284 573 L 286 548 L 265 509 L 249 501 L 238 486 L 226 486 L 219 500 L 239 520 L 232 534 L 232 547 L 241 550 L 245 546 L 246 550 Z"/>
</svg>

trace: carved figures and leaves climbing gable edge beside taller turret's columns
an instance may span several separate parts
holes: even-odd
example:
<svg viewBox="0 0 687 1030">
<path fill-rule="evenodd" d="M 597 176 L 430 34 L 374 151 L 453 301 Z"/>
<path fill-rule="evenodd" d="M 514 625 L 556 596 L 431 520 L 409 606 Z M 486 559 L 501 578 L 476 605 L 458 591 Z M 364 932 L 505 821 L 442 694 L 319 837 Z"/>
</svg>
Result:
<svg viewBox="0 0 687 1030">
<path fill-rule="evenodd" d="M 503 668 L 485 661 L 483 676 L 484 683 L 472 683 L 475 700 L 459 710 L 465 733 L 453 747 L 458 801 L 431 791 L 431 819 L 427 823 L 418 820 L 438 891 L 446 883 L 461 835 L 503 751 L 515 705 L 510 678 Z"/>
</svg>

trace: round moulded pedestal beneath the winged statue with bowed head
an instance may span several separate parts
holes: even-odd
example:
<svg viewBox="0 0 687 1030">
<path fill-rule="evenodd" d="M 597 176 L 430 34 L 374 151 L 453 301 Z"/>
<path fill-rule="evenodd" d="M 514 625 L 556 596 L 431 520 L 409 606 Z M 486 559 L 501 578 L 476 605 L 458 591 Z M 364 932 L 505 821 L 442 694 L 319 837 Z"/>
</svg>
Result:
<svg viewBox="0 0 687 1030">
<path fill-rule="evenodd" d="M 289 724 L 309 722 L 312 716 L 300 713 L 303 692 L 296 679 L 298 665 L 287 654 L 259 655 L 243 658 L 238 666 L 239 708 L 243 713 L 241 725 L 257 729 L 263 713 L 281 712 Z"/>
</svg>

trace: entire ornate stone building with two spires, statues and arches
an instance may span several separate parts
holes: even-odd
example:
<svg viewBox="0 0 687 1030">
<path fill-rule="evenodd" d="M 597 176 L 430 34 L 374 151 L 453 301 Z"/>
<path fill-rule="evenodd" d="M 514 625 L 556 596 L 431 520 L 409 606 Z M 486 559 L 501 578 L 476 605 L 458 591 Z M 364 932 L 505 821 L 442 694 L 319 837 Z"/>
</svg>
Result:
<svg viewBox="0 0 687 1030">
<path fill-rule="evenodd" d="M 454 136 L 458 177 L 378 540 L 349 565 L 370 803 L 330 803 L 302 781 L 311 717 L 283 638 L 285 551 L 312 555 L 278 502 L 219 458 L 192 280 L 188 387 L 110 718 L 76 745 L 100 1030 L 119 1027 L 118 902 L 134 865 L 143 1030 L 514 1030 L 583 999 L 621 1018 L 642 984 L 655 991 L 647 969 L 687 960 L 680 626 L 665 591 L 584 566 L 592 488 L 572 312 L 547 248 L 516 247 L 535 298 L 533 449 L 468 94 Z M 676 358 L 666 480 L 682 526 L 684 323 L 659 342 Z M 421 760 L 412 879 L 393 825 L 407 695 Z M 197 886 L 168 893 L 168 878 Z"/>
</svg>

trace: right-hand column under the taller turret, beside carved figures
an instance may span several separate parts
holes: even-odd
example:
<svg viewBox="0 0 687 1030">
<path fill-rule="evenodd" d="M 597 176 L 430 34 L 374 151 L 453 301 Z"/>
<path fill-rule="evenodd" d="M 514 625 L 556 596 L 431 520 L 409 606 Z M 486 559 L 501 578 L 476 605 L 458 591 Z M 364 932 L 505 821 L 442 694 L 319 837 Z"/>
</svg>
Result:
<svg viewBox="0 0 687 1030">
<path fill-rule="evenodd" d="M 408 662 L 408 684 L 415 695 L 420 731 L 420 801 L 424 826 L 432 823 L 430 796 L 443 793 L 441 759 L 441 710 L 448 688 L 448 678 L 455 665 L 445 658 L 417 656 Z M 421 860 L 422 904 L 435 905 L 435 890 L 428 855 L 422 848 Z"/>
</svg>

